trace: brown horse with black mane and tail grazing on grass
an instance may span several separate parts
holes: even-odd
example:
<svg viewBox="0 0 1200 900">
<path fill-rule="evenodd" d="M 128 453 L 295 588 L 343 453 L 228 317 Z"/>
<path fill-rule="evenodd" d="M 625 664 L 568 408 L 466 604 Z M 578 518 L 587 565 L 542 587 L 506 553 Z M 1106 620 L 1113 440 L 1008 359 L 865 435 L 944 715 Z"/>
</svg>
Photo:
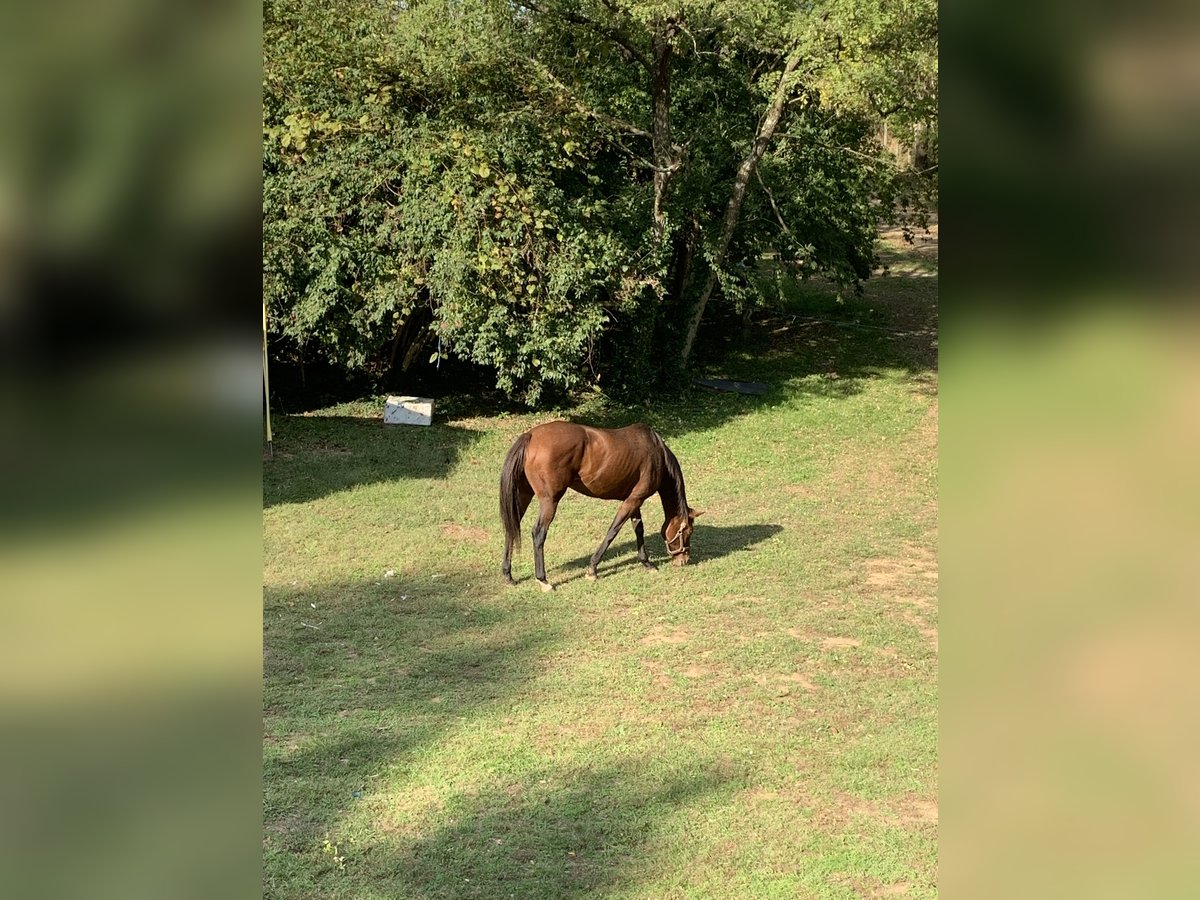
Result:
<svg viewBox="0 0 1200 900">
<path fill-rule="evenodd" d="M 521 544 L 521 518 L 530 500 L 538 498 L 538 523 L 533 528 L 534 576 L 542 590 L 554 587 L 546 580 L 542 550 L 554 521 L 558 502 L 566 488 L 584 497 L 620 500 L 617 517 L 588 565 L 588 578 L 596 577 L 596 565 L 613 538 L 634 520 L 637 558 L 654 569 L 646 553 L 642 503 L 654 493 L 662 500 L 662 540 L 676 565 L 688 562 L 691 529 L 701 514 L 688 505 L 679 461 L 646 425 L 626 428 L 592 428 L 572 422 L 547 422 L 518 437 L 504 458 L 500 473 L 500 521 L 504 522 L 504 581 L 512 581 L 512 547 Z"/>
</svg>

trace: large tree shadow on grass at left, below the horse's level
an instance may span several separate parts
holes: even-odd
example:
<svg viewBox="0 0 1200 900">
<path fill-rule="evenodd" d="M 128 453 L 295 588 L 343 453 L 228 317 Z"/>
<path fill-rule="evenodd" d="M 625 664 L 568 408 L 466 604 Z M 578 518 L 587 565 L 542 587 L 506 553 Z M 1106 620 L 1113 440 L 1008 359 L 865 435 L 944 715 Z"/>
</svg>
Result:
<svg viewBox="0 0 1200 900">
<path fill-rule="evenodd" d="M 311 853 L 371 779 L 518 692 L 554 641 L 454 578 L 268 588 L 266 868 Z"/>
</svg>

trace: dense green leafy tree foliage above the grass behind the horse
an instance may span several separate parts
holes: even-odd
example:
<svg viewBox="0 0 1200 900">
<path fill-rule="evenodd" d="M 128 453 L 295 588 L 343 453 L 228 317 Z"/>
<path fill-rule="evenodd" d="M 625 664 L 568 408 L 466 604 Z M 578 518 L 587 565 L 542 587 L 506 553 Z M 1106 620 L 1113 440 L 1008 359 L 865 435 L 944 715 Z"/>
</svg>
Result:
<svg viewBox="0 0 1200 900">
<path fill-rule="evenodd" d="M 704 272 L 738 306 L 762 302 L 748 274 L 767 253 L 866 277 L 877 223 L 911 193 L 862 102 L 895 86 L 872 48 L 929 70 L 928 36 L 872 8 L 269 0 L 275 353 L 388 379 L 436 335 L 528 403 L 622 377 L 644 390 L 677 371 Z M 853 65 L 829 23 L 862 37 Z M 786 127 L 724 252 L 734 174 L 798 49 Z"/>
</svg>

